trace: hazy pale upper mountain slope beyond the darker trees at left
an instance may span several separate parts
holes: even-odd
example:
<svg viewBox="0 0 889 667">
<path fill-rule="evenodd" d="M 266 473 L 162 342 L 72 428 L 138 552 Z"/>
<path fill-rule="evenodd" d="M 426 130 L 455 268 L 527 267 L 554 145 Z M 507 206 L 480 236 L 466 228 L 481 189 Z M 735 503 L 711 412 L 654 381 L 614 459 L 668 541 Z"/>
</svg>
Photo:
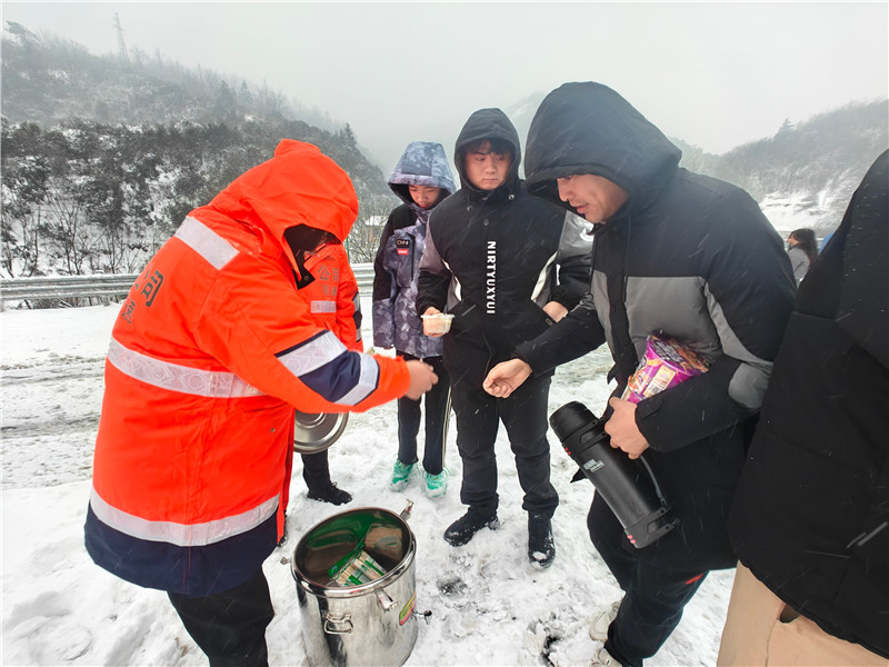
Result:
<svg viewBox="0 0 889 667">
<path fill-rule="evenodd" d="M 290 123 L 299 121 L 304 126 L 302 135 L 291 138 L 318 143 L 334 157 L 356 181 L 359 195 L 391 196 L 382 171 L 360 148 L 343 146 L 342 123 L 331 131 L 329 115 L 294 104 L 264 83 L 256 86 L 203 68 L 188 69 L 159 53 L 148 57 L 139 50 L 127 59 L 93 56 L 77 42 L 38 37 L 11 21 L 6 22 L 2 36 L 0 110 L 8 123 L 33 122 L 44 129 L 73 119 L 126 126 L 223 123 L 232 128 L 244 122 L 292 128 Z M 274 146 L 267 148 L 270 157 Z"/>
</svg>

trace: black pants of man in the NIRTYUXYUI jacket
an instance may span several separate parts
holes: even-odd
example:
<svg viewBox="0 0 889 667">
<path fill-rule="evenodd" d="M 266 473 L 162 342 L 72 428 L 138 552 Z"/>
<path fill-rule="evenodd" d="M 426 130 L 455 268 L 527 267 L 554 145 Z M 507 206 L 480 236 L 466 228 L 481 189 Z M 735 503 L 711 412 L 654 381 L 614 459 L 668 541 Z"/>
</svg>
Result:
<svg viewBox="0 0 889 667">
<path fill-rule="evenodd" d="M 497 511 L 495 440 L 502 420 L 516 457 L 526 511 L 551 517 L 559 495 L 549 480 L 547 407 L 551 376 L 528 378 L 509 398 L 495 398 L 480 386 L 451 388 L 457 415 L 457 449 L 463 462 L 460 501 L 488 516 Z"/>
</svg>

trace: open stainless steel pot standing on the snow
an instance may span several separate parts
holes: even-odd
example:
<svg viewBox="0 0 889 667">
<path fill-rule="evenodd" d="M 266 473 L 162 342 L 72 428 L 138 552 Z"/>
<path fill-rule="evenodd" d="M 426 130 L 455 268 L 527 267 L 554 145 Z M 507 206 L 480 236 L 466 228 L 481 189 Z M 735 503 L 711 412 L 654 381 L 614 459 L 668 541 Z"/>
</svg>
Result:
<svg viewBox="0 0 889 667">
<path fill-rule="evenodd" d="M 410 657 L 417 643 L 417 547 L 406 522 L 409 514 L 410 505 L 401 515 L 379 507 L 352 509 L 300 539 L 290 567 L 310 665 L 397 667 Z M 386 574 L 368 584 L 337 586 L 331 566 L 362 539 Z"/>
</svg>

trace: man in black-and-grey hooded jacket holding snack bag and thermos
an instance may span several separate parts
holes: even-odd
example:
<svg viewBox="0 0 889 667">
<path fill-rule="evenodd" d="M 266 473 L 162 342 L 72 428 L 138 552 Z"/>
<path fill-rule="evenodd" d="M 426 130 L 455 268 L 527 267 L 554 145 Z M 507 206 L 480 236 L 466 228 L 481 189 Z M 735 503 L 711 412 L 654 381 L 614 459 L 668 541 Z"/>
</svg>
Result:
<svg viewBox="0 0 889 667">
<path fill-rule="evenodd" d="M 610 348 L 611 446 L 645 457 L 680 522 L 636 549 L 593 497 L 590 537 L 625 591 L 590 630 L 605 640 L 605 665 L 655 655 L 707 573 L 735 566 L 726 520 L 795 293 L 781 239 L 756 201 L 679 168 L 680 157 L 606 86 L 566 83 L 547 96 L 528 133 L 528 188 L 595 223 L 591 288 L 485 381 L 509 396 L 526 378 Z M 709 370 L 638 405 L 621 400 L 652 335 L 688 346 Z"/>
</svg>

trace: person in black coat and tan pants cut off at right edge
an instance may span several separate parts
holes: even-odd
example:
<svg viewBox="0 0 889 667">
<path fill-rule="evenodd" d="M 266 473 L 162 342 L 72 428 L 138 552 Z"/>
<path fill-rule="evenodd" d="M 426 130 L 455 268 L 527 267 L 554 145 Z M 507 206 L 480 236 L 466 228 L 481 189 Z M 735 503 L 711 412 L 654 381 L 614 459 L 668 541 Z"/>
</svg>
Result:
<svg viewBox="0 0 889 667">
<path fill-rule="evenodd" d="M 717 664 L 889 664 L 889 151 L 799 288 L 729 535 Z"/>
</svg>

